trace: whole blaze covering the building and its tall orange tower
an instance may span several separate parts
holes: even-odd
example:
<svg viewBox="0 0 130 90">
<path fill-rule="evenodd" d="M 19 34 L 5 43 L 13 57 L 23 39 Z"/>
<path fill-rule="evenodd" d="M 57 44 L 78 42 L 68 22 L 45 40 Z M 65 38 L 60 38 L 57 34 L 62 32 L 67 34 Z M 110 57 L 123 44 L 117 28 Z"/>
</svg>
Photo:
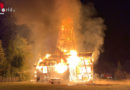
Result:
<svg viewBox="0 0 130 90">
<path fill-rule="evenodd" d="M 72 20 L 64 21 L 59 32 L 57 48 L 60 52 L 46 54 L 39 59 L 36 70 L 45 74 L 45 77 L 57 78 L 59 75 L 69 73 L 69 81 L 93 80 L 92 53 L 77 52 L 74 46 Z M 59 75 L 58 75 L 58 74 Z M 47 76 L 48 75 L 48 76 Z M 44 78 L 45 78 L 44 77 Z"/>
</svg>

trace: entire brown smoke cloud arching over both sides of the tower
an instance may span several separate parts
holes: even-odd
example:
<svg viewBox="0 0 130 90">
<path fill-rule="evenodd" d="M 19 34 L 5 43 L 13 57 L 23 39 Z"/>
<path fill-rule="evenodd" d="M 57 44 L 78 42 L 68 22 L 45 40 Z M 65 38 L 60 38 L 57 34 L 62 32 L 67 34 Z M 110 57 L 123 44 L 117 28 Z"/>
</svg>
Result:
<svg viewBox="0 0 130 90">
<path fill-rule="evenodd" d="M 102 18 L 94 17 L 92 5 L 82 6 L 80 0 L 8 0 L 8 4 L 16 9 L 16 24 L 31 30 L 35 57 L 55 50 L 61 23 L 68 18 L 73 21 L 78 50 L 99 55 L 104 24 Z"/>
</svg>

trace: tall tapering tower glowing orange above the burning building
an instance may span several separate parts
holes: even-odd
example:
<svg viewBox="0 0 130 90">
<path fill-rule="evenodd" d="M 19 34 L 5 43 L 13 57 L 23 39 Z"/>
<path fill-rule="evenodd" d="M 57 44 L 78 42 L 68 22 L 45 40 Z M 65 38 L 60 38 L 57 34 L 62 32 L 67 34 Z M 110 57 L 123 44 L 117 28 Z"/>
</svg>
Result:
<svg viewBox="0 0 130 90">
<path fill-rule="evenodd" d="M 64 53 L 75 50 L 73 22 L 71 19 L 62 22 L 58 34 L 57 48 Z"/>
</svg>

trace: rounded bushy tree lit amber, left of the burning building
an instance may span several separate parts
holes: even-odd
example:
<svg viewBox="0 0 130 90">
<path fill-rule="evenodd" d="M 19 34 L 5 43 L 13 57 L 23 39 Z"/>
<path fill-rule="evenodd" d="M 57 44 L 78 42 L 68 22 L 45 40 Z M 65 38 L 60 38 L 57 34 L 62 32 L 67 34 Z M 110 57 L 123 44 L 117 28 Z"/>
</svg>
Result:
<svg viewBox="0 0 130 90">
<path fill-rule="evenodd" d="M 10 40 L 8 60 L 10 62 L 9 71 L 12 76 L 21 76 L 31 69 L 32 47 L 25 38 L 16 35 L 15 38 Z"/>
</svg>

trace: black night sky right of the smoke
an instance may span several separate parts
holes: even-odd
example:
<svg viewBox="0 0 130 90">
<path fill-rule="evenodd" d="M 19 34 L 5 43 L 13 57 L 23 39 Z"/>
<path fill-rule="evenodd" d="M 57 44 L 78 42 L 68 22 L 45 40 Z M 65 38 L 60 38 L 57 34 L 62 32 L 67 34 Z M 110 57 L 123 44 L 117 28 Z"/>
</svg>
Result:
<svg viewBox="0 0 130 90">
<path fill-rule="evenodd" d="M 81 0 L 81 2 L 83 5 L 93 3 L 98 16 L 104 19 L 107 27 L 104 52 L 96 64 L 97 71 L 101 68 L 108 70 L 104 63 L 109 63 L 109 67 L 110 65 L 116 67 L 120 62 L 124 70 L 130 72 L 130 0 Z"/>
</svg>

